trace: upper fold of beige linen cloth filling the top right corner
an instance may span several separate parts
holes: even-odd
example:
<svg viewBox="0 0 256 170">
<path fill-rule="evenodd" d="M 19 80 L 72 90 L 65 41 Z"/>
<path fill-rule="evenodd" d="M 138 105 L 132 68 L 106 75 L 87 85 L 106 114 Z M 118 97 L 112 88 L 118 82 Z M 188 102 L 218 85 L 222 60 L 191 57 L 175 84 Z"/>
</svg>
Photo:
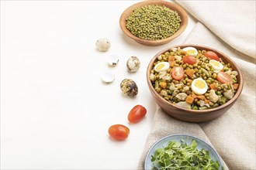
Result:
<svg viewBox="0 0 256 170">
<path fill-rule="evenodd" d="M 255 57 L 254 0 L 176 1 L 229 46 Z"/>
</svg>

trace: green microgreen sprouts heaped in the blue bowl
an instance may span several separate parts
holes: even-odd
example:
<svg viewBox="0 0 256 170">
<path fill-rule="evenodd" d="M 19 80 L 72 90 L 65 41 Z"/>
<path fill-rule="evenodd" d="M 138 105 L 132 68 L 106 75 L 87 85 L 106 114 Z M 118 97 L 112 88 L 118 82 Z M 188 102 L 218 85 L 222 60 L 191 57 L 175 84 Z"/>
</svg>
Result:
<svg viewBox="0 0 256 170">
<path fill-rule="evenodd" d="M 151 155 L 153 170 L 213 170 L 219 169 L 219 162 L 214 162 L 209 151 L 202 148 L 199 151 L 197 143 L 193 139 L 191 145 L 177 141 L 169 141 L 164 148 L 157 148 L 154 155 Z"/>
</svg>

